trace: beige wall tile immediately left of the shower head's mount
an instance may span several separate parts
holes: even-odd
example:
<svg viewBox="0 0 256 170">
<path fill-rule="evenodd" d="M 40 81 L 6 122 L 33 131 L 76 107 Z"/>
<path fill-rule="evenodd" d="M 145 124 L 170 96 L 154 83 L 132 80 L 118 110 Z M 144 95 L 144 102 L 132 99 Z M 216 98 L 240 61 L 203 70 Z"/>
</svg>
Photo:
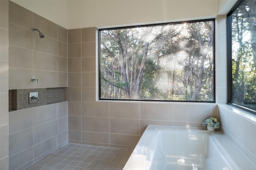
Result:
<svg viewBox="0 0 256 170">
<path fill-rule="evenodd" d="M 33 32 L 9 23 L 9 45 L 33 49 Z M 38 36 L 39 37 L 39 36 Z"/>
</svg>

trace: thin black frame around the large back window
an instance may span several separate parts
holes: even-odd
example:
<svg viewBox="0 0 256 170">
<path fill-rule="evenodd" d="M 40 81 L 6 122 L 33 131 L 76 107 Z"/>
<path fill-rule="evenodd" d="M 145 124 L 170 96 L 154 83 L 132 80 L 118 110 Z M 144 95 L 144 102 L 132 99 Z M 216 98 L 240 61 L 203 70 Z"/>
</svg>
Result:
<svg viewBox="0 0 256 170">
<path fill-rule="evenodd" d="M 197 101 L 197 100 L 146 100 L 146 99 L 108 99 L 108 98 L 101 98 L 101 36 L 100 32 L 104 30 L 114 30 L 114 29 L 126 29 L 126 28 L 136 28 L 136 27 L 150 27 L 150 26 L 160 26 L 160 25 L 174 25 L 174 24 L 182 24 L 182 23 L 193 23 L 193 22 L 202 22 L 202 21 L 212 21 L 212 64 L 213 64 L 213 100 L 212 101 Z M 201 19 L 201 20 L 188 20 L 188 21 L 175 21 L 175 22 L 166 22 L 166 23 L 154 23 L 154 24 L 145 24 L 145 25 L 131 25 L 131 26 L 121 26 L 121 27 L 108 27 L 98 29 L 98 100 L 99 101 L 128 101 L 128 102 L 190 102 L 190 103 L 216 103 L 216 73 L 215 73 L 215 18 L 210 19 Z"/>
</svg>

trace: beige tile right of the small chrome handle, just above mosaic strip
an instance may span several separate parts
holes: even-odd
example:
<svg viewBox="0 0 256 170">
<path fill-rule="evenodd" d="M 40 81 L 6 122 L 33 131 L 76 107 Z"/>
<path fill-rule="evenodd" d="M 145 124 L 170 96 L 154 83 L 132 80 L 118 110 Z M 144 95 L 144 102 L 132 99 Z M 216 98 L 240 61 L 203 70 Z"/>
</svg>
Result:
<svg viewBox="0 0 256 170">
<path fill-rule="evenodd" d="M 57 72 L 34 70 L 34 77 L 39 79 L 39 83 L 32 82 L 33 88 L 53 88 L 57 87 Z M 31 78 L 30 78 L 31 81 Z"/>
</svg>

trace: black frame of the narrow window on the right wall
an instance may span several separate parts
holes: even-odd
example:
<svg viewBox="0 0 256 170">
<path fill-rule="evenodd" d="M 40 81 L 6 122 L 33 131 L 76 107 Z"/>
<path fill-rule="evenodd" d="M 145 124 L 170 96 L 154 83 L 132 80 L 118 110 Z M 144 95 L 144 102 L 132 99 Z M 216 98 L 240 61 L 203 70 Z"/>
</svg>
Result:
<svg viewBox="0 0 256 170">
<path fill-rule="evenodd" d="M 240 106 L 239 104 L 232 103 L 232 19 L 231 16 L 233 12 L 240 6 L 245 3 L 247 0 L 238 0 L 236 4 L 231 8 L 227 14 L 227 100 L 228 105 L 237 107 L 249 113 L 256 115 L 256 110 L 250 109 L 248 107 Z"/>
</svg>

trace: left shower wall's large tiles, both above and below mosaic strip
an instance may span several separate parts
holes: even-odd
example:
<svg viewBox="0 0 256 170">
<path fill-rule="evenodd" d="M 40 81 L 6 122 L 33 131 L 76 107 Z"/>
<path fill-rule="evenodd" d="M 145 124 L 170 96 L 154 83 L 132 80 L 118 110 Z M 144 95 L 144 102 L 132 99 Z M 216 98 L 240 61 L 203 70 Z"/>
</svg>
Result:
<svg viewBox="0 0 256 170">
<path fill-rule="evenodd" d="M 9 90 L 67 87 L 68 30 L 11 1 L 8 26 Z M 68 143 L 68 102 L 9 112 L 9 122 L 9 170 L 24 169 Z"/>
</svg>

